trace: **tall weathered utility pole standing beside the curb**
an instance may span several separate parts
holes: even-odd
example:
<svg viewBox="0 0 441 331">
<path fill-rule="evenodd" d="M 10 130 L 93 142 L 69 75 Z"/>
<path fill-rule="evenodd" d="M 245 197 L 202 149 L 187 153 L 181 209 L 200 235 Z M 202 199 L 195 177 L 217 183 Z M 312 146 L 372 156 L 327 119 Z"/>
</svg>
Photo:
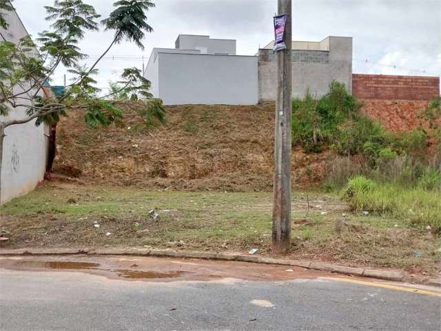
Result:
<svg viewBox="0 0 441 331">
<path fill-rule="evenodd" d="M 276 52 L 272 252 L 283 254 L 288 252 L 291 241 L 291 0 L 278 0 L 278 14 L 287 14 L 287 48 Z"/>
</svg>

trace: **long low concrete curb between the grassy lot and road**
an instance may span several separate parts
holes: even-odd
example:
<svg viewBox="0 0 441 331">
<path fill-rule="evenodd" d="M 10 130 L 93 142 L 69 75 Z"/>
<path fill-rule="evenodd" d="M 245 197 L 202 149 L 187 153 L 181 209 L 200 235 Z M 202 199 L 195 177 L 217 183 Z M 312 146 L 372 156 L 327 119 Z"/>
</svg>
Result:
<svg viewBox="0 0 441 331">
<path fill-rule="evenodd" d="M 147 249 L 147 248 L 21 248 L 17 250 L 0 249 L 0 256 L 20 256 L 20 255 L 133 255 L 141 257 L 178 257 L 189 259 L 207 259 L 223 261 L 240 261 L 253 263 L 266 263 L 276 265 L 290 265 L 293 267 L 307 268 L 313 270 L 323 270 L 336 272 L 338 274 L 349 274 L 353 276 L 364 276 L 387 281 L 409 281 L 412 277 L 404 272 L 391 270 L 374 270 L 369 268 L 353 268 L 345 265 L 334 265 L 320 263 L 316 261 L 275 259 L 272 257 L 258 257 L 254 255 L 243 255 L 233 253 L 212 253 L 196 251 L 176 251 L 167 249 Z M 418 283 L 441 287 L 441 279 L 412 279 Z"/>
</svg>

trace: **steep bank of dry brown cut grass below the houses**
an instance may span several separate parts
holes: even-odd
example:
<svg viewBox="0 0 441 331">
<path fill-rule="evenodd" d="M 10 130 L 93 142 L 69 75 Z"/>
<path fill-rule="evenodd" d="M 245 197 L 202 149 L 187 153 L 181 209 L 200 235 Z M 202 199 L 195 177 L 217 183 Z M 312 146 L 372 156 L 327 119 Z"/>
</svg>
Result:
<svg viewBox="0 0 441 331">
<path fill-rule="evenodd" d="M 258 106 L 170 106 L 165 126 L 91 130 L 81 113 L 58 129 L 54 172 L 80 181 L 178 190 L 271 190 L 274 103 Z M 130 128 L 130 129 L 129 129 Z M 307 183 L 305 165 L 318 181 L 329 153 L 293 153 L 294 185 Z"/>
</svg>

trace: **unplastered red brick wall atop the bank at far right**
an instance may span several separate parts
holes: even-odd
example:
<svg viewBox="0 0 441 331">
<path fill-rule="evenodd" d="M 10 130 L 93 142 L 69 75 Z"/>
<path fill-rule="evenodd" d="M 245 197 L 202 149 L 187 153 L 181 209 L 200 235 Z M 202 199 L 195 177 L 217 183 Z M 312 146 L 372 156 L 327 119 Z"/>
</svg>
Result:
<svg viewBox="0 0 441 331">
<path fill-rule="evenodd" d="M 440 94 L 440 77 L 352 74 L 358 99 L 430 100 Z"/>
</svg>

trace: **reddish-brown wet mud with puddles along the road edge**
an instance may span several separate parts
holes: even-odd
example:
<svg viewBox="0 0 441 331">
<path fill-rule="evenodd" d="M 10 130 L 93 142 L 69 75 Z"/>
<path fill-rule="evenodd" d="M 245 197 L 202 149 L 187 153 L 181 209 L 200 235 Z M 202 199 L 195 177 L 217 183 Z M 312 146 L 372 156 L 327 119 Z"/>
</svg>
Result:
<svg viewBox="0 0 441 331">
<path fill-rule="evenodd" d="M 285 281 L 315 279 L 329 272 L 286 265 L 155 257 L 3 257 L 0 269 L 34 272 L 85 272 L 127 281 Z"/>
</svg>

